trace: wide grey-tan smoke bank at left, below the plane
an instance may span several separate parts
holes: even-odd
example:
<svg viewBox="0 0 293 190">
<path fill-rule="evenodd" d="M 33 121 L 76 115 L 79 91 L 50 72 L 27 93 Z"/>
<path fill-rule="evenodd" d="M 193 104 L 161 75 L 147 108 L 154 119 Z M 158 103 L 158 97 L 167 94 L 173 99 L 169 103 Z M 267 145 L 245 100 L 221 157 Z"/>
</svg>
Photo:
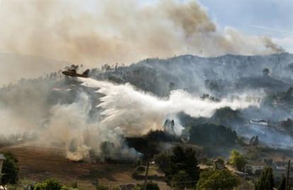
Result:
<svg viewBox="0 0 293 190">
<path fill-rule="evenodd" d="M 1 142 L 20 140 L 30 146 L 58 148 L 75 161 L 90 159 L 90 153 L 101 161 L 107 157 L 134 160 L 139 156 L 124 143 L 123 131 L 100 123 L 90 93 L 76 87 L 74 100 L 59 100 L 59 96 L 69 98 L 71 92 L 54 91 L 54 85 L 51 79 L 38 79 L 1 89 Z M 103 148 L 106 142 L 113 146 Z"/>
</svg>

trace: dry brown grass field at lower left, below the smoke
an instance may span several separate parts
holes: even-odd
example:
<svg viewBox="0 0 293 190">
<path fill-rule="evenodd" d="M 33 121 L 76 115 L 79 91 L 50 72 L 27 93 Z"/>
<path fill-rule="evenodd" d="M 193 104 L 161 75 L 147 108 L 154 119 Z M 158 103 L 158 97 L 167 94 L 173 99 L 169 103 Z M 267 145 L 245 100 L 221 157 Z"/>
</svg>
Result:
<svg viewBox="0 0 293 190">
<path fill-rule="evenodd" d="M 65 158 L 63 150 L 18 145 L 0 148 L 1 152 L 11 151 L 18 158 L 19 179 L 42 182 L 48 178 L 58 179 L 70 186 L 78 182 L 79 189 L 96 189 L 96 184 L 104 184 L 112 189 L 123 184 L 137 184 L 144 181 L 132 179 L 134 165 L 105 164 L 96 162 L 72 162 Z M 170 189 L 163 182 L 163 174 L 150 167 L 149 176 L 158 183 L 160 189 Z"/>
</svg>

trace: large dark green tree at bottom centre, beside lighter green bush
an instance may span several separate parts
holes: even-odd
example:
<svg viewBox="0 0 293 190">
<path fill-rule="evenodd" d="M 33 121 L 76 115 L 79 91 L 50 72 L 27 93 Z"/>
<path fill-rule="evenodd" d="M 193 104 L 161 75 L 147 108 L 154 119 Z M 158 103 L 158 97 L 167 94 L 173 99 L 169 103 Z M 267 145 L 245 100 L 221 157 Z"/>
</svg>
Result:
<svg viewBox="0 0 293 190">
<path fill-rule="evenodd" d="M 198 178 L 200 169 L 197 166 L 197 159 L 195 158 L 195 150 L 193 148 L 182 148 L 176 146 L 173 148 L 173 154 L 170 156 L 170 168 L 165 172 L 166 182 L 169 186 L 176 187 L 177 189 L 192 188 L 195 186 Z M 178 177 L 184 176 L 182 186 L 178 186 Z"/>
</svg>

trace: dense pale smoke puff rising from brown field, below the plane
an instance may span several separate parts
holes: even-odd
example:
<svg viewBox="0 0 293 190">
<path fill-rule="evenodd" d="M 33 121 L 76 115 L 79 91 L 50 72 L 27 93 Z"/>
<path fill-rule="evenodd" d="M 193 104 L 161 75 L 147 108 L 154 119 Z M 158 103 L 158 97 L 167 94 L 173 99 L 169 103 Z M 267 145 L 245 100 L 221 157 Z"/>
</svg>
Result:
<svg viewBox="0 0 293 190">
<path fill-rule="evenodd" d="M 45 144 L 61 143 L 65 146 L 66 156 L 70 160 L 85 160 L 90 151 L 103 161 L 104 156 L 117 158 L 137 158 L 137 151 L 126 148 L 122 131 L 105 127 L 98 119 L 90 118 L 91 100 L 86 93 L 81 93 L 78 100 L 69 105 L 55 105 L 47 129 L 42 131 L 51 141 Z M 48 138 L 47 138 L 48 141 Z M 107 155 L 101 148 L 105 142 L 113 146 L 107 147 Z"/>
</svg>

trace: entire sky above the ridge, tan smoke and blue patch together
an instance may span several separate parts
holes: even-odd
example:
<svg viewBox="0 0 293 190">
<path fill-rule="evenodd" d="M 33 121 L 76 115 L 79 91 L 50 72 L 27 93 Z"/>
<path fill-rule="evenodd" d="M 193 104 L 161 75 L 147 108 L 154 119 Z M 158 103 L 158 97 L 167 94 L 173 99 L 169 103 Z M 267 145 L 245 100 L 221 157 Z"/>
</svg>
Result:
<svg viewBox="0 0 293 190">
<path fill-rule="evenodd" d="M 1 0 L 0 53 L 98 67 L 181 54 L 292 52 L 289 10 L 289 0 Z M 11 81 L 18 70 L 27 77 L 65 66 L 0 61 L 2 78 Z"/>
</svg>

